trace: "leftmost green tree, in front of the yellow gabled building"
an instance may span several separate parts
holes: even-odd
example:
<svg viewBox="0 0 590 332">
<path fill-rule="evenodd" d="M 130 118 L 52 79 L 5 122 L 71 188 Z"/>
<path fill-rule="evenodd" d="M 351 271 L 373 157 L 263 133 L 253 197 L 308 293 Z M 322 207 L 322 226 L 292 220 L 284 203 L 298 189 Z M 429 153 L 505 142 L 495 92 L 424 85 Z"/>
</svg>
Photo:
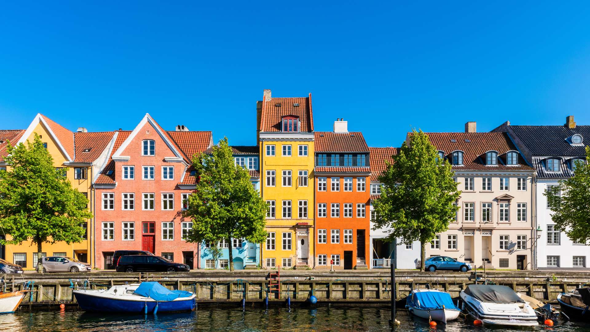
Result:
<svg viewBox="0 0 590 332">
<path fill-rule="evenodd" d="M 67 168 L 55 168 L 53 158 L 35 134 L 34 141 L 8 145 L 4 158 L 10 171 L 0 171 L 0 227 L 10 239 L 2 245 L 82 242 L 86 232 L 81 223 L 92 217 L 88 198 L 72 188 Z M 42 265 L 37 264 L 37 272 Z"/>
</svg>

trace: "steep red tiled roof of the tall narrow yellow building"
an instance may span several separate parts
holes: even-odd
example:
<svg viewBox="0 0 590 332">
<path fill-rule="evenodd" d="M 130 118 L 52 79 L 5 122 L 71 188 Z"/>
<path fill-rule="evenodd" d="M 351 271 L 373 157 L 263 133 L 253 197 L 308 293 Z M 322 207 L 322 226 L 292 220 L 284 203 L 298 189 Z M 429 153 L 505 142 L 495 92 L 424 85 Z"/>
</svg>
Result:
<svg viewBox="0 0 590 332">
<path fill-rule="evenodd" d="M 293 106 L 299 103 L 299 106 Z M 280 107 L 276 105 L 280 104 Z M 260 118 L 261 132 L 280 132 L 281 118 L 286 115 L 299 116 L 301 122 L 300 132 L 313 132 L 312 94 L 309 97 L 272 97 L 262 102 L 262 113 Z"/>
</svg>

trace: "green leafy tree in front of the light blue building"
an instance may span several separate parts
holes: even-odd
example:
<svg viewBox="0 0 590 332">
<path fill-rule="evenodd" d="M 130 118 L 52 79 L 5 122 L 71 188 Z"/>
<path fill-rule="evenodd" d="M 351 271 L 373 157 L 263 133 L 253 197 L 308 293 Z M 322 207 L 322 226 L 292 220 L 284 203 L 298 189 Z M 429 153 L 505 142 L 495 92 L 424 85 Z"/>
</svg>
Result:
<svg viewBox="0 0 590 332">
<path fill-rule="evenodd" d="M 183 211 L 183 216 L 193 220 L 186 239 L 196 243 L 227 240 L 230 271 L 233 271 L 233 239 L 252 243 L 266 239 L 267 203 L 250 182 L 250 173 L 235 165 L 227 138 L 213 147 L 211 155 L 195 157 L 193 165 L 199 181 L 188 198 L 188 208 Z"/>
</svg>

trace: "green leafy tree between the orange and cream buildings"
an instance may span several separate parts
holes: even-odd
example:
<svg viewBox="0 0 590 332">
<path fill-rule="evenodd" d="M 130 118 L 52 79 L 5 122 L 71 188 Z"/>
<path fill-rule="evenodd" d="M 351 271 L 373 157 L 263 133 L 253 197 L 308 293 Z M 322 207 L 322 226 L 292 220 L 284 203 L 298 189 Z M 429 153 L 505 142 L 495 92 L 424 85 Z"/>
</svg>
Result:
<svg viewBox="0 0 590 332">
<path fill-rule="evenodd" d="M 389 242 L 396 238 L 407 244 L 419 241 L 424 271 L 425 246 L 448 229 L 458 210 L 453 203 L 461 191 L 451 165 L 438 158 L 426 134 L 413 129 L 408 139 L 379 177 L 384 186 L 375 200 L 373 229 L 390 228 L 385 239 Z"/>
</svg>

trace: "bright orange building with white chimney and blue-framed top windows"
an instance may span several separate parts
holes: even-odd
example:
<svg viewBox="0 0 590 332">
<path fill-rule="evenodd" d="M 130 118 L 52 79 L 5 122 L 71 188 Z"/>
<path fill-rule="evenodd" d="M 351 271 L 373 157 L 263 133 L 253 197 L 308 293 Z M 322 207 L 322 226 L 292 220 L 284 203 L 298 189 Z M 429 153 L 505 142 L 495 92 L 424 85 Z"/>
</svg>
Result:
<svg viewBox="0 0 590 332">
<path fill-rule="evenodd" d="M 369 257 L 369 147 L 348 123 L 315 132 L 316 268 L 366 269 Z"/>
</svg>

